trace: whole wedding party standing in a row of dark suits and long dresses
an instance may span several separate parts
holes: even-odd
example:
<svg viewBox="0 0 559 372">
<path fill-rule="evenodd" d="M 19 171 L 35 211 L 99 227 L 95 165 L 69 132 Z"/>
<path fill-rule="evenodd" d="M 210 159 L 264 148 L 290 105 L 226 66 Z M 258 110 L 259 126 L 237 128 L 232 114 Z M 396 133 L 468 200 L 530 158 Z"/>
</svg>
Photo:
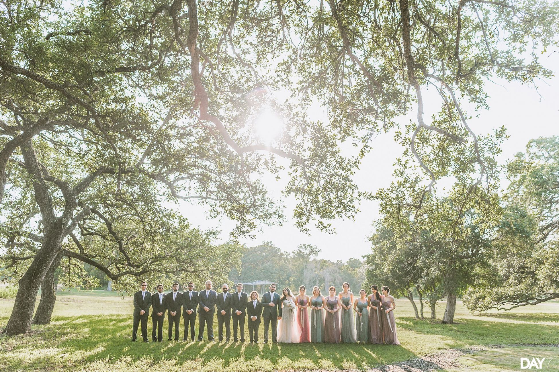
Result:
<svg viewBox="0 0 559 372">
<path fill-rule="evenodd" d="M 148 342 L 148 316 L 152 308 L 151 319 L 153 341 L 163 341 L 163 321 L 165 313 L 169 322 L 168 340 L 179 340 L 181 315 L 184 322 L 183 341 L 188 339 L 190 328 L 191 340 L 195 340 L 195 323 L 198 316 L 198 341 L 203 341 L 204 328 L 207 339 L 214 340 L 214 314 L 217 314 L 218 338 L 230 341 L 231 321 L 233 321 L 233 341 L 245 341 L 245 322 L 248 326 L 249 340 L 258 344 L 258 328 L 264 323 L 264 344 L 269 341 L 270 328 L 272 342 L 288 344 L 300 342 L 369 342 L 371 344 L 400 345 L 396 335 L 394 297 L 390 289 L 383 286 L 379 293 L 376 285 L 371 285 L 371 294 L 359 291 L 354 298 L 349 284 L 342 285 L 343 290 L 336 294 L 331 286 L 329 294 L 324 296 L 319 287 L 312 288 L 312 296 L 306 294 L 304 285 L 299 287 L 299 294 L 294 296 L 289 288 L 283 288 L 282 294 L 276 293 L 276 284 L 271 284 L 269 292 L 259 297 L 255 290 L 250 294 L 243 292 L 243 284 L 236 286 L 236 292 L 229 293 L 229 286 L 222 285 L 222 292 L 212 289 L 212 282 L 206 282 L 206 288 L 197 292 L 192 282 L 188 290 L 178 292 L 179 284 L 173 284 L 173 292 L 163 293 L 163 285 L 157 285 L 157 293 L 147 290 L 148 283 L 141 283 L 141 290 L 134 294 L 134 326 L 132 341 L 136 341 L 138 326 L 141 323 L 141 335 Z M 217 308 L 217 309 L 216 309 Z M 174 331 L 174 338 L 173 338 Z"/>
</svg>

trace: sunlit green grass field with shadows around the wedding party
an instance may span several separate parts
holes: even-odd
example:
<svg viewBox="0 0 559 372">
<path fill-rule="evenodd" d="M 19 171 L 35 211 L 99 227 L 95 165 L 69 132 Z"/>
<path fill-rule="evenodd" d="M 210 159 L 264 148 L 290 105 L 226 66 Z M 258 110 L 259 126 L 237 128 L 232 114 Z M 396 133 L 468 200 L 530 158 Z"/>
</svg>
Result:
<svg viewBox="0 0 559 372">
<path fill-rule="evenodd" d="M 463 367 L 448 370 L 519 370 L 519 357 L 524 355 L 559 360 L 557 347 L 533 346 L 559 344 L 559 302 L 476 316 L 458 303 L 454 325 L 415 319 L 407 299 L 397 300 L 396 306 L 401 346 L 168 342 L 167 321 L 163 326 L 165 341 L 145 344 L 130 341 L 131 297 L 122 299 L 103 291 L 60 293 L 50 325 L 33 326 L 27 335 L 0 337 L 0 370 L 366 370 L 440 350 L 491 345 L 499 347 L 462 356 L 459 360 Z M 6 325 L 12 307 L 13 300 L 0 299 L 0 328 Z M 443 309 L 444 302 L 438 306 L 439 315 Z M 215 322 L 217 338 L 217 319 Z M 181 322 L 181 339 L 182 326 Z M 151 320 L 148 333 L 151 340 Z M 261 329 L 260 342 L 262 337 Z M 552 363 L 549 368 L 552 366 L 556 369 L 559 363 Z"/>
</svg>

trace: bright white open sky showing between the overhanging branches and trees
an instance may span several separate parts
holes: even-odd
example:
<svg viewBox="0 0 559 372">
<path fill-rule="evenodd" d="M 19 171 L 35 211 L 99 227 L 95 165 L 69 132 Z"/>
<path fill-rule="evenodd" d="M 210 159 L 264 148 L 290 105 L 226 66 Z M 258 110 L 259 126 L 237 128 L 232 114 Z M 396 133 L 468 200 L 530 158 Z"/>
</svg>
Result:
<svg viewBox="0 0 559 372">
<path fill-rule="evenodd" d="M 547 68 L 559 71 L 559 53 L 543 55 L 541 63 Z M 495 80 L 495 83 L 487 83 L 486 92 L 490 97 L 490 109 L 479 112 L 479 117 L 473 118 L 468 124 L 477 135 L 485 135 L 501 126 L 507 128 L 510 138 L 503 144 L 500 164 L 503 164 L 506 159 L 511 159 L 515 153 L 524 151 L 525 145 L 530 139 L 559 135 L 557 120 L 559 77 L 539 81 L 538 91 L 518 83 Z M 435 101 L 438 96 L 435 96 L 434 92 L 424 94 L 425 118 L 427 119 L 440 103 Z M 429 103 L 432 106 L 429 106 Z M 466 109 L 470 113 L 473 112 L 472 108 L 466 107 Z M 411 115 L 402 117 L 399 121 L 401 126 L 403 127 L 410 119 L 413 120 L 414 114 L 412 112 Z M 311 115 L 320 117 L 319 120 L 323 118 L 320 111 L 311 112 Z M 354 177 L 359 188 L 369 192 L 375 192 L 378 188 L 390 184 L 394 179 L 392 177 L 394 160 L 402 152 L 402 147 L 392 140 L 390 134 L 377 136 L 372 140 L 372 145 L 373 150 L 363 160 L 361 169 Z M 267 185 L 273 198 L 282 198 L 280 190 L 283 182 L 275 182 L 273 177 L 266 178 L 263 182 Z M 257 232 L 255 239 L 241 239 L 241 243 L 255 246 L 263 241 L 272 241 L 283 251 L 293 251 L 300 244 L 312 244 L 321 249 L 321 258 L 333 261 L 346 261 L 350 257 L 362 259 L 362 256 L 369 252 L 370 245 L 367 237 L 372 233 L 371 222 L 379 217 L 376 202 L 362 202 L 361 212 L 357 214 L 355 222 L 331 221 L 337 231 L 335 235 L 320 232 L 314 226 L 310 228 L 310 235 L 301 232 L 293 226 L 291 218 L 293 207 L 296 204 L 295 199 L 285 199 L 283 202 L 286 206 L 287 217 L 283 226 L 264 226 L 261 233 Z M 227 218 L 212 220 L 205 213 L 205 209 L 196 204 L 184 202 L 180 209 L 193 225 L 198 225 L 202 229 L 217 226 L 221 230 L 221 241 L 216 243 L 229 240 L 229 232 L 235 226 L 235 222 L 229 221 Z"/>
</svg>

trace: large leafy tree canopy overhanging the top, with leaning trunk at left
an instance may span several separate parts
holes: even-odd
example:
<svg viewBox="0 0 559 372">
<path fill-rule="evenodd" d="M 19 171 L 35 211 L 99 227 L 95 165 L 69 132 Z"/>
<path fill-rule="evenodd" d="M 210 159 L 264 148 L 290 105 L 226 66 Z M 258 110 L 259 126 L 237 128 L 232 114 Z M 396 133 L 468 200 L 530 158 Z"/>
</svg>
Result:
<svg viewBox="0 0 559 372">
<path fill-rule="evenodd" d="M 157 263 L 131 257 L 205 236 L 170 217 L 169 202 L 201 202 L 238 222 L 233 237 L 247 235 L 283 218 L 260 181 L 268 173 L 285 178 L 297 227 L 332 231 L 369 195 L 352 175 L 372 137 L 410 109 L 417 121 L 396 131 L 407 149 L 396 176 L 418 164 L 406 193 L 415 213 L 447 176 L 467 195 L 448 211 L 475 209 L 472 200 L 491 198 L 481 185 L 503 133 L 476 135 L 462 105 L 485 107 L 492 77 L 533 84 L 552 74 L 538 53 L 555 42 L 555 9 L 543 0 L 0 4 L 1 239 L 8 259 L 28 262 L 4 332 L 29 330 L 60 252 L 106 261 L 116 249 L 111 273 L 138 274 Z M 428 87 L 440 96 L 430 122 Z M 314 102 L 328 122 L 307 115 Z M 470 218 L 460 208 L 454 217 Z M 186 227 L 183 242 L 150 244 L 174 231 L 158 230 L 161 218 Z"/>
</svg>

